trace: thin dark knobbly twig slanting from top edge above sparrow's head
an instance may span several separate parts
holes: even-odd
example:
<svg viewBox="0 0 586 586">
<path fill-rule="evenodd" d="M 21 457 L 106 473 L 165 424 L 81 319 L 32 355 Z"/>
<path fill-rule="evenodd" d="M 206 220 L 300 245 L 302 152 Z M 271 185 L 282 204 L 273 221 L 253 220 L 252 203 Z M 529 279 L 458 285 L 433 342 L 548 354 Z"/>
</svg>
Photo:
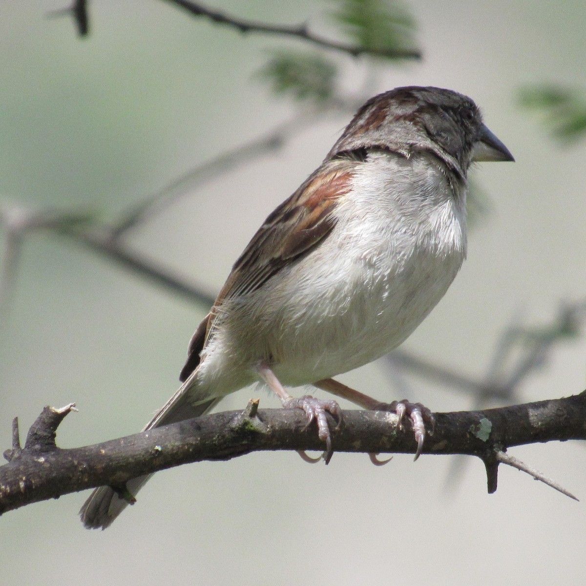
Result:
<svg viewBox="0 0 586 586">
<path fill-rule="evenodd" d="M 218 24 L 231 26 L 232 28 L 239 30 L 241 33 L 254 32 L 294 37 L 305 40 L 309 43 L 313 43 L 314 45 L 318 45 L 325 49 L 342 51 L 353 56 L 370 54 L 394 59 L 421 59 L 421 52 L 415 49 L 389 49 L 347 45 L 346 43 L 339 43 L 337 41 L 328 40 L 321 36 L 315 35 L 314 33 L 309 32 L 306 25 L 267 25 L 264 22 L 247 21 L 246 19 L 237 18 L 236 16 L 229 16 L 224 12 L 213 11 L 210 8 L 206 8 L 199 2 L 188 2 L 187 0 L 165 0 L 165 2 L 178 5 L 191 13 L 193 16 L 203 16 L 204 18 L 209 18 Z"/>
</svg>

